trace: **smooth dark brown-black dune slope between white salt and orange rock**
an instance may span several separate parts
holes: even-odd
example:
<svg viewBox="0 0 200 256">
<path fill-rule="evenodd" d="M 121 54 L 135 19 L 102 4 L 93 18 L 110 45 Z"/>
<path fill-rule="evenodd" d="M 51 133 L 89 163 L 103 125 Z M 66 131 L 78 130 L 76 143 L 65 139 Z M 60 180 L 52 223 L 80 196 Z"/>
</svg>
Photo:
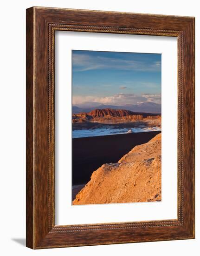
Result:
<svg viewBox="0 0 200 256">
<path fill-rule="evenodd" d="M 136 145 L 151 140 L 160 131 L 72 139 L 72 185 L 87 183 L 93 171 L 115 163 Z"/>
</svg>

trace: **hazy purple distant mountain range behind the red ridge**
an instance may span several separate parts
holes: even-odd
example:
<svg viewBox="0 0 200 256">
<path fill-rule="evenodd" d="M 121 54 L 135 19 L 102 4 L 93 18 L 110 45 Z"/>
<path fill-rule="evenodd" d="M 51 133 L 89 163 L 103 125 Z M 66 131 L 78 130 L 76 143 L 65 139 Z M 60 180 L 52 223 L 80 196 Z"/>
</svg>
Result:
<svg viewBox="0 0 200 256">
<path fill-rule="evenodd" d="M 77 113 L 81 113 L 81 112 L 90 112 L 92 111 L 94 108 L 96 109 L 105 109 L 105 108 L 112 108 L 112 109 L 126 109 L 129 111 L 133 111 L 133 112 L 143 112 L 143 113 L 161 113 L 161 104 L 157 104 L 154 102 L 143 102 L 141 104 L 137 104 L 137 105 L 123 105 L 123 106 L 114 106 L 114 105 L 99 105 L 99 106 L 95 106 L 92 107 L 92 103 L 91 103 L 91 108 L 87 107 L 84 108 L 84 106 L 72 106 L 72 113 L 73 114 L 77 114 Z"/>
</svg>

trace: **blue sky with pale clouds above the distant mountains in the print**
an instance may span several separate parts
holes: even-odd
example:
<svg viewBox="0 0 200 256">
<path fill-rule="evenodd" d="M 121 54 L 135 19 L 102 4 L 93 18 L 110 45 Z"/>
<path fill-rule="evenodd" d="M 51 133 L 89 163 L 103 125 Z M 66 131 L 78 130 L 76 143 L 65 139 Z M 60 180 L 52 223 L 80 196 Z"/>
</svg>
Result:
<svg viewBox="0 0 200 256">
<path fill-rule="evenodd" d="M 161 54 L 72 50 L 72 103 L 161 103 Z"/>
</svg>

